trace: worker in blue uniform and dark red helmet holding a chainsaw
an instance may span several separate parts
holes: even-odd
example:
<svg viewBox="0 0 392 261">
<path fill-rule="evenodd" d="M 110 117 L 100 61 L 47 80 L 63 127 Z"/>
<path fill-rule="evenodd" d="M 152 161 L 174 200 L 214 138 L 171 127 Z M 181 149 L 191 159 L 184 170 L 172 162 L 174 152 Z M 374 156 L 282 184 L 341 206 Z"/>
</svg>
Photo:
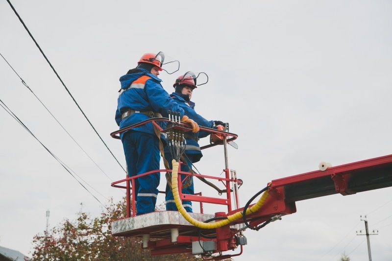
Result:
<svg viewBox="0 0 392 261">
<path fill-rule="evenodd" d="M 184 75 L 179 76 L 173 84 L 175 91 L 170 95 L 172 99 L 180 106 L 186 116 L 189 119 L 193 119 L 199 126 L 207 128 L 215 128 L 215 126 L 223 124 L 219 120 L 207 120 L 198 115 L 195 111 L 195 103 L 191 101 L 192 92 L 197 88 L 196 86 L 196 75 L 192 71 L 186 72 Z M 207 137 L 210 133 L 207 131 L 199 131 L 198 133 L 185 133 L 184 137 L 186 140 L 185 155 L 182 157 L 184 164 L 181 165 L 181 171 L 190 172 L 192 163 L 200 161 L 203 156 L 198 144 L 200 138 Z M 172 155 L 169 148 L 165 147 L 165 158 L 169 162 L 170 168 L 172 168 Z M 194 183 L 193 177 L 185 174 L 181 174 L 181 180 L 183 181 L 183 188 L 181 192 L 183 194 L 194 194 Z M 187 212 L 193 212 L 192 202 L 183 200 L 182 205 Z M 166 185 L 166 210 L 177 211 L 173 199 L 172 188 L 169 184 Z"/>
</svg>

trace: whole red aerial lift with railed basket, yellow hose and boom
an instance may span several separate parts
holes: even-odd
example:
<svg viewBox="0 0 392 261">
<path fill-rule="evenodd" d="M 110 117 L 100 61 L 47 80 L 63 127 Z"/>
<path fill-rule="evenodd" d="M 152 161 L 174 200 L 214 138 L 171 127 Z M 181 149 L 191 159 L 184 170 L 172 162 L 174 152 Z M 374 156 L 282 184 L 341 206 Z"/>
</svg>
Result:
<svg viewBox="0 0 392 261">
<path fill-rule="evenodd" d="M 125 130 L 147 122 L 172 121 L 165 118 L 148 119 L 141 123 L 127 127 Z M 186 124 L 176 122 L 164 131 L 176 133 L 180 137 Z M 157 124 L 156 124 L 157 125 Z M 295 202 L 321 196 L 340 193 L 351 195 L 357 192 L 392 187 L 392 155 L 368 159 L 364 161 L 331 166 L 320 163 L 319 170 L 272 180 L 267 186 L 256 193 L 245 207 L 239 206 L 239 185 L 242 180 L 237 178 L 235 170 L 228 168 L 227 146 L 237 138 L 236 134 L 228 130 L 216 130 L 200 127 L 212 134 L 219 134 L 221 142 L 211 143 L 202 149 L 223 145 L 225 168 L 224 175 L 203 175 L 181 171 L 181 161 L 177 159 L 173 169 L 157 169 L 112 183 L 112 187 L 126 190 L 127 211 L 126 217 L 112 222 L 112 235 L 120 237 L 139 237 L 142 247 L 149 249 L 151 255 L 164 255 L 174 253 L 192 253 L 201 255 L 204 260 L 221 260 L 241 255 L 243 246 L 247 244 L 244 236 L 245 229 L 259 230 L 270 222 L 281 219 L 282 216 L 296 212 Z M 112 133 L 112 137 L 124 130 Z M 161 132 L 163 132 L 161 130 Z M 117 136 L 116 136 L 117 137 Z M 181 146 L 177 142 L 176 146 Z M 178 183 L 177 208 L 175 211 L 158 211 L 154 213 L 136 215 L 135 213 L 135 179 L 153 172 L 172 173 L 172 184 Z M 218 182 L 223 188 L 211 186 L 218 191 L 217 197 L 202 196 L 201 192 L 195 195 L 182 194 L 182 181 L 179 174 L 192 175 L 194 178 L 210 179 Z M 231 175 L 230 175 L 231 174 Z M 125 185 L 121 185 L 125 183 Z M 177 185 L 177 184 L 176 184 Z M 160 191 L 161 192 L 161 191 Z M 163 191 L 162 191 L 163 192 Z M 251 204 L 263 193 L 255 204 Z M 173 187 L 174 195 L 174 187 Z M 200 203 L 201 213 L 181 212 L 181 200 L 190 200 Z M 227 212 L 204 214 L 203 203 L 223 205 Z M 225 251 L 239 250 L 236 254 L 224 254 Z M 230 252 L 233 253 L 233 252 Z"/>
</svg>

